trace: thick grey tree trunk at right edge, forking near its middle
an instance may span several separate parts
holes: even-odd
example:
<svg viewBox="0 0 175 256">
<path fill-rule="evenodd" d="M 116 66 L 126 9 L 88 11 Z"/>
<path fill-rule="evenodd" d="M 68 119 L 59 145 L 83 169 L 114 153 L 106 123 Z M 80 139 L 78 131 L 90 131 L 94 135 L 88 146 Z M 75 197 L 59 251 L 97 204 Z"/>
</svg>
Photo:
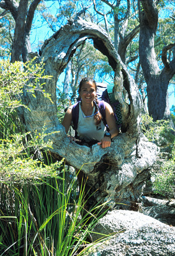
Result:
<svg viewBox="0 0 175 256">
<path fill-rule="evenodd" d="M 153 120 L 170 119 L 168 102 L 168 85 L 175 74 L 175 59 L 160 70 L 154 50 L 154 39 L 158 22 L 158 11 L 155 1 L 140 1 L 139 6 L 139 57 L 147 84 L 148 110 Z"/>
</svg>

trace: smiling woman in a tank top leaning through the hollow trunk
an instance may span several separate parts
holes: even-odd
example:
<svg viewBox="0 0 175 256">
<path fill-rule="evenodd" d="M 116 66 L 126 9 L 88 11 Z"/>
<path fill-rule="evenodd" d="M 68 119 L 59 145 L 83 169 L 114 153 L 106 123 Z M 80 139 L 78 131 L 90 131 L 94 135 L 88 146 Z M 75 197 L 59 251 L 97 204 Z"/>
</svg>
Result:
<svg viewBox="0 0 175 256">
<path fill-rule="evenodd" d="M 96 82 L 92 78 L 85 77 L 79 84 L 79 117 L 78 126 L 76 129 L 76 137 L 69 136 L 71 141 L 96 141 L 102 148 L 111 146 L 111 139 L 118 135 L 117 125 L 115 123 L 113 109 L 107 102 L 103 102 L 106 113 L 107 127 L 102 121 L 102 116 L 99 111 L 99 101 L 96 95 Z M 65 132 L 68 133 L 72 123 L 72 108 L 69 107 L 65 113 L 62 125 L 65 127 Z M 73 108 L 74 109 L 74 108 Z"/>
</svg>

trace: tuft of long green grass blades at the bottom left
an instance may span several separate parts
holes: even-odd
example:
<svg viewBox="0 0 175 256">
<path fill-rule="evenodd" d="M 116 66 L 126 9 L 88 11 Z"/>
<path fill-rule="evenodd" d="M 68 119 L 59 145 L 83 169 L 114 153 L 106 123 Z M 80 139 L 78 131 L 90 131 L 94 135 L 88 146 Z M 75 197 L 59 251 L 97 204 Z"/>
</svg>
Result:
<svg viewBox="0 0 175 256">
<path fill-rule="evenodd" d="M 0 255 L 81 254 L 101 206 L 86 212 L 76 176 L 63 165 L 58 174 L 1 185 Z"/>
</svg>

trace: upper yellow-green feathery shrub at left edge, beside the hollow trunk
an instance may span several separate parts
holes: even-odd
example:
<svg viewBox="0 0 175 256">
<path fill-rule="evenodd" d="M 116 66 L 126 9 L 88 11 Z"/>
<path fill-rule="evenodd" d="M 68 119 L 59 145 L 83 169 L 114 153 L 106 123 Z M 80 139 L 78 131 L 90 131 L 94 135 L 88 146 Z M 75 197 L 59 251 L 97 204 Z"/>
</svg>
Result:
<svg viewBox="0 0 175 256">
<path fill-rule="evenodd" d="M 40 91 L 50 98 L 43 90 L 41 78 L 51 77 L 44 76 L 43 72 L 44 63 L 36 64 L 34 59 L 26 64 L 10 63 L 9 59 L 0 61 L 0 139 L 23 130 L 17 116 L 17 108 L 26 108 L 22 103 L 23 87 L 33 96 Z"/>
</svg>

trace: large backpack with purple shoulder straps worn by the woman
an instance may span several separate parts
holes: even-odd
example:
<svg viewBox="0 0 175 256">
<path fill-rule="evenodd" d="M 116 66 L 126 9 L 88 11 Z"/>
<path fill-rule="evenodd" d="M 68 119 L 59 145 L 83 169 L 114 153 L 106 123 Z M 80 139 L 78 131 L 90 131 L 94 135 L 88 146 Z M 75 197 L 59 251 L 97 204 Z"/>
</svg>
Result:
<svg viewBox="0 0 175 256">
<path fill-rule="evenodd" d="M 97 84 L 97 99 L 99 100 L 99 111 L 102 116 L 104 126 L 106 126 L 107 131 L 109 131 L 107 122 L 106 122 L 106 112 L 104 101 L 109 103 L 114 111 L 115 122 L 117 124 L 118 130 L 120 130 L 122 124 L 122 116 L 120 111 L 120 103 L 115 100 L 113 87 L 114 85 L 106 85 L 103 83 Z M 72 107 L 72 127 L 76 131 L 78 127 L 78 117 L 79 117 L 79 105 L 80 101 L 75 103 Z"/>
</svg>

